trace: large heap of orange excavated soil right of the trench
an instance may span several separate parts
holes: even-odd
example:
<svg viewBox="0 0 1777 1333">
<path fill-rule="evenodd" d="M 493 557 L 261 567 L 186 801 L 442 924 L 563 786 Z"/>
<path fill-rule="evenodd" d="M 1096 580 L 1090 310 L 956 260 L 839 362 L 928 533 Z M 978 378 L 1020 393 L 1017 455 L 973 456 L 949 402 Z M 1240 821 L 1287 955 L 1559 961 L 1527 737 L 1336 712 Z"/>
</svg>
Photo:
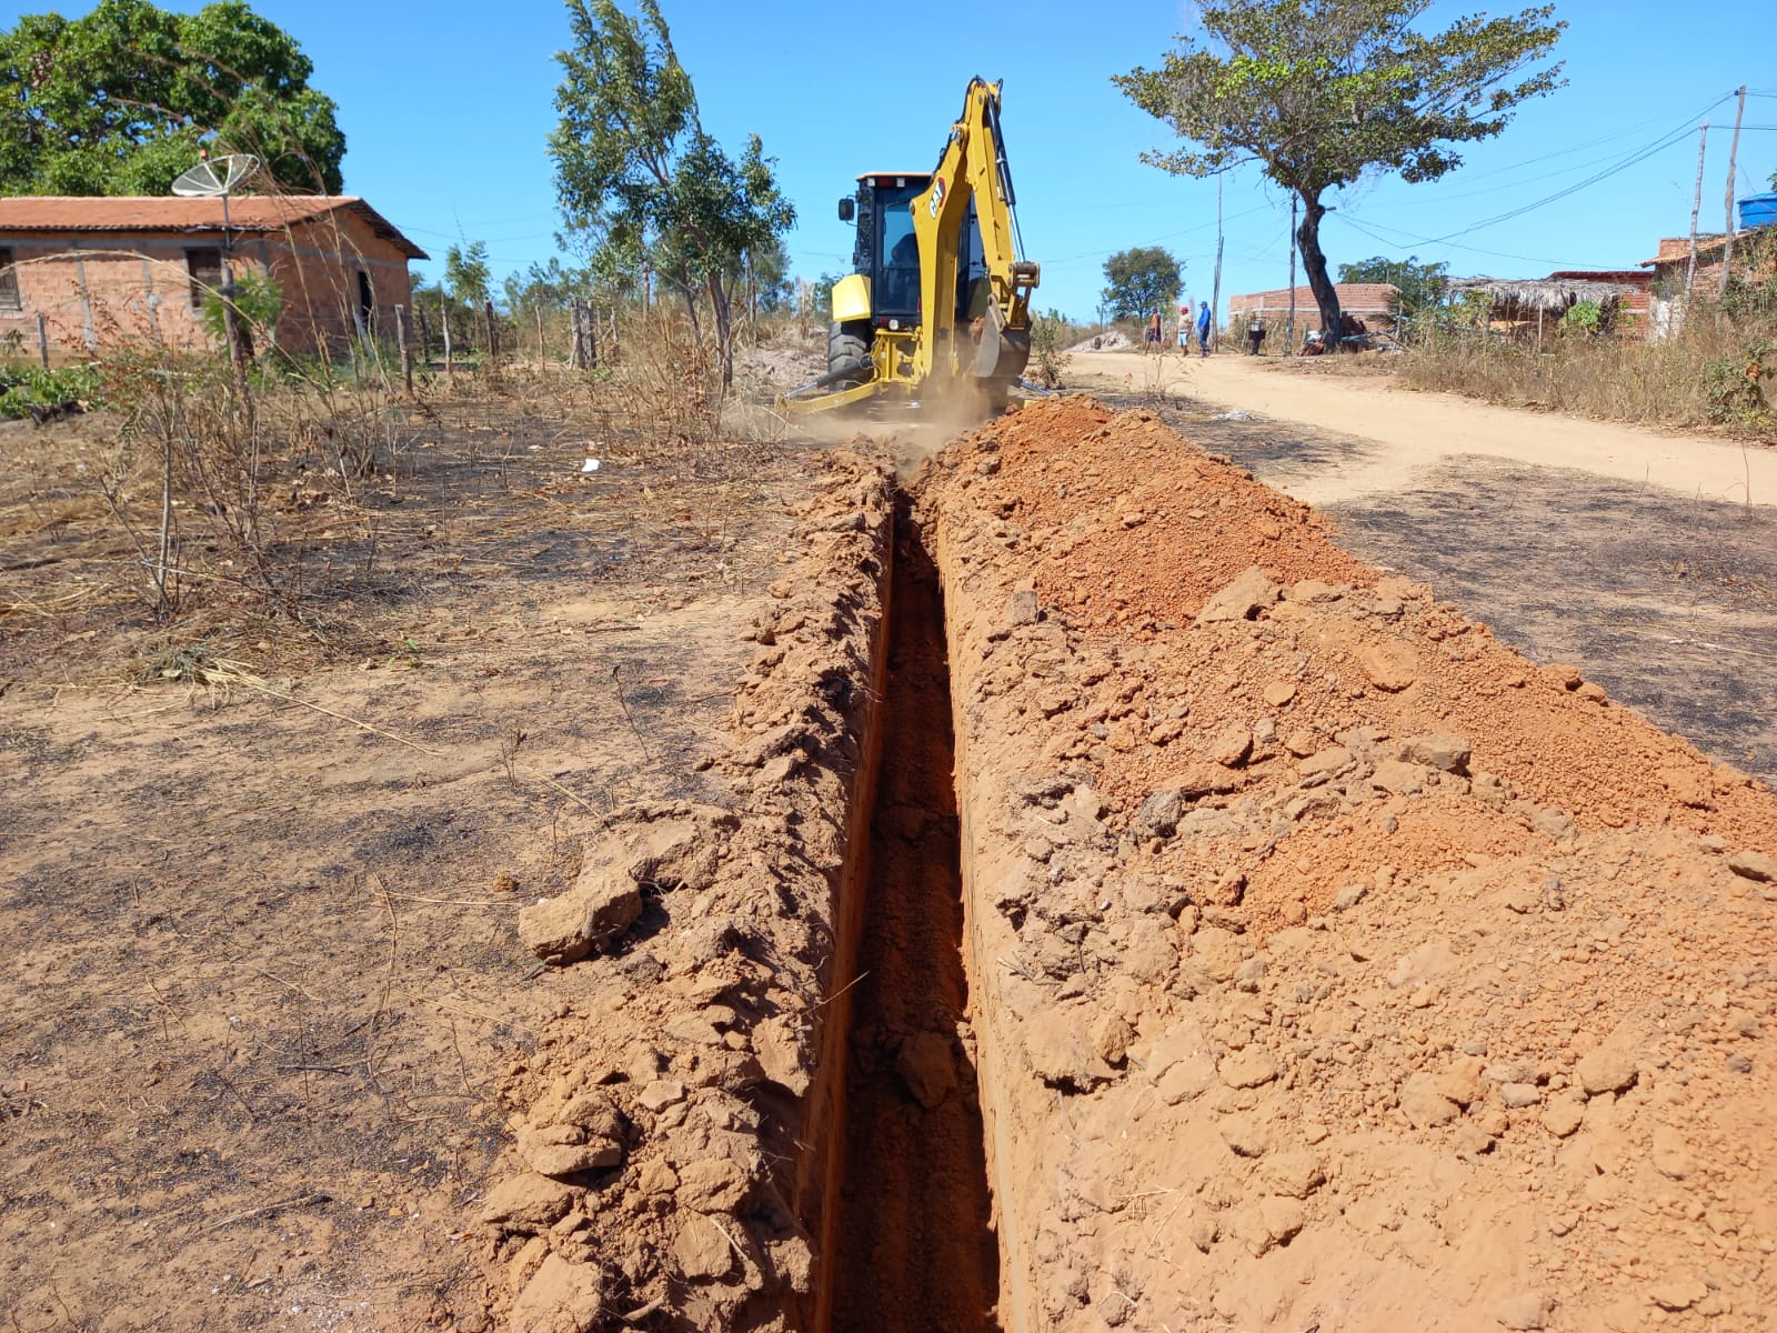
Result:
<svg viewBox="0 0 1777 1333">
<path fill-rule="evenodd" d="M 1770 1328 L 1763 786 L 1151 414 L 915 487 L 1002 1328 Z"/>
</svg>

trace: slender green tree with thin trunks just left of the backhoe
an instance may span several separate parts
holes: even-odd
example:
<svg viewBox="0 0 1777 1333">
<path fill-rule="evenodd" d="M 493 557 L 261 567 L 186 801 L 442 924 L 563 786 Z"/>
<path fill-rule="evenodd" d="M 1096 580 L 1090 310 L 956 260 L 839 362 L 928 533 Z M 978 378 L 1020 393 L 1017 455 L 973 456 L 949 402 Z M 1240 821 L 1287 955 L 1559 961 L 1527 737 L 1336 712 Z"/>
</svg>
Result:
<svg viewBox="0 0 1777 1333">
<path fill-rule="evenodd" d="M 640 263 L 684 297 L 693 327 L 709 299 L 723 382 L 734 377 L 729 290 L 746 252 L 796 220 L 757 135 L 739 162 L 704 132 L 691 76 L 656 0 L 567 0 L 574 46 L 558 52 L 562 121 L 549 137 L 569 231 L 594 233 L 611 263 Z"/>
</svg>

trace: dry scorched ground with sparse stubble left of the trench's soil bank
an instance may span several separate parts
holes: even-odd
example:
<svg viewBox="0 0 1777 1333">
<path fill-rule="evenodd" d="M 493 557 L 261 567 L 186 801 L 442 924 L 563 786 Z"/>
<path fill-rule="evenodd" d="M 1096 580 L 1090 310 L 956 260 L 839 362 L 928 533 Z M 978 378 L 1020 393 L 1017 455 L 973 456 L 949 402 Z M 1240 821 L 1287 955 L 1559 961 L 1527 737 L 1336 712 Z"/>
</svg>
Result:
<svg viewBox="0 0 1777 1333">
<path fill-rule="evenodd" d="M 354 503 L 279 467 L 290 606 L 156 626 L 108 432 L 0 427 L 0 1324 L 473 1328 L 496 1082 L 574 997 L 517 914 L 720 793 L 821 459 L 441 400 Z"/>
</svg>

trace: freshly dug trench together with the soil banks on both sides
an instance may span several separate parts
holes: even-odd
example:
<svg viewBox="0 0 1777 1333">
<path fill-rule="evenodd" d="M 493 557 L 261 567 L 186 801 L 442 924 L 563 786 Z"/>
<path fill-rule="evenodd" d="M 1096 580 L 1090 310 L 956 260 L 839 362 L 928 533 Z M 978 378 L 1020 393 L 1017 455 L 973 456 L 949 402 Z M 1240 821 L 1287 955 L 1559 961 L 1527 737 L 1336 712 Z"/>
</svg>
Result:
<svg viewBox="0 0 1777 1333">
<path fill-rule="evenodd" d="M 1146 412 L 826 466 L 526 912 L 506 1328 L 1770 1322 L 1765 787 Z"/>
</svg>

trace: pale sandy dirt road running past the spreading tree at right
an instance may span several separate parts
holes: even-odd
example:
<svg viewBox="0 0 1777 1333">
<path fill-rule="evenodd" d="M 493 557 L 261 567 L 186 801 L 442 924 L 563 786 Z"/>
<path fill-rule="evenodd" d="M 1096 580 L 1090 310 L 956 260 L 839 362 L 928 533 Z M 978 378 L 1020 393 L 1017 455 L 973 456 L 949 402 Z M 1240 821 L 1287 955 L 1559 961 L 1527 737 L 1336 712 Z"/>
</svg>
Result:
<svg viewBox="0 0 1777 1333">
<path fill-rule="evenodd" d="M 1491 407 L 1446 393 L 1397 389 L 1384 379 L 1306 375 L 1276 361 L 1221 355 L 1151 359 L 1134 352 L 1075 355 L 1068 387 L 1089 393 L 1183 393 L 1363 439 L 1313 475 L 1267 478 L 1310 505 L 1398 491 L 1454 457 L 1486 455 L 1573 467 L 1701 499 L 1777 505 L 1777 451 L 1708 435 L 1667 435 L 1606 421 Z"/>
</svg>

